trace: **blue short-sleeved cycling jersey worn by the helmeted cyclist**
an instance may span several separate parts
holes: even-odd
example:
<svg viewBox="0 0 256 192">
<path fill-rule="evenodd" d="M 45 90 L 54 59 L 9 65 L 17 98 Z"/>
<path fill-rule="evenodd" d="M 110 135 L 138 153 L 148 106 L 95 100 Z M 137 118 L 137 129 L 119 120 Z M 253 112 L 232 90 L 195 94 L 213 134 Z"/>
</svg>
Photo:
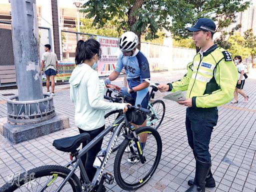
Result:
<svg viewBox="0 0 256 192">
<path fill-rule="evenodd" d="M 146 57 L 143 55 L 141 51 L 136 49 L 131 56 L 124 56 L 122 53 L 118 57 L 117 64 L 115 66 L 116 72 L 121 72 L 122 68 L 124 68 L 127 81 L 130 88 L 137 86 L 142 83 L 144 79 L 150 79 L 150 71 L 149 64 Z M 143 99 L 146 99 L 146 94 L 148 92 L 148 87 L 136 91 L 136 101 L 135 106 L 137 104 L 141 104 Z"/>
</svg>

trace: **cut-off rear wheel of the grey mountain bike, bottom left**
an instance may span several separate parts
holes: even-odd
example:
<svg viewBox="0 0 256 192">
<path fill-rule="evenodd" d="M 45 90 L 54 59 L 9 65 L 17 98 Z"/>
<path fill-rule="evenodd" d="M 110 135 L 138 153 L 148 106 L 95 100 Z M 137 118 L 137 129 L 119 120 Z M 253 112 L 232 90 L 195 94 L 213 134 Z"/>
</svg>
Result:
<svg viewBox="0 0 256 192">
<path fill-rule="evenodd" d="M 70 169 L 59 165 L 45 165 L 17 175 L 0 187 L 0 191 L 56 191 Z M 81 191 L 81 182 L 73 174 L 62 187 L 61 191 Z"/>
</svg>

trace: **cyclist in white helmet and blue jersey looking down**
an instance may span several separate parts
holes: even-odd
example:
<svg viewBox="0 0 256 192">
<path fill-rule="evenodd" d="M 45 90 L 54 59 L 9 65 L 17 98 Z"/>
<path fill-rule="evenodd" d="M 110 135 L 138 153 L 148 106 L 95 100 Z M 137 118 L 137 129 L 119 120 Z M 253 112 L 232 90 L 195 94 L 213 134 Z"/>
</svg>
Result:
<svg viewBox="0 0 256 192">
<path fill-rule="evenodd" d="M 140 50 L 136 48 L 138 37 L 132 31 L 124 32 L 118 39 L 118 47 L 122 53 L 118 57 L 114 71 L 105 79 L 105 84 L 110 84 L 120 74 L 124 68 L 127 75 L 128 87 L 121 87 L 122 95 L 130 95 L 134 98 L 132 105 L 147 108 L 149 100 L 148 85 L 145 79 L 150 78 L 149 64 L 147 58 Z M 145 126 L 146 120 L 140 126 Z M 140 136 L 140 146 L 143 148 L 146 140 L 146 134 Z M 129 162 L 134 162 L 133 159 L 128 159 Z"/>
</svg>

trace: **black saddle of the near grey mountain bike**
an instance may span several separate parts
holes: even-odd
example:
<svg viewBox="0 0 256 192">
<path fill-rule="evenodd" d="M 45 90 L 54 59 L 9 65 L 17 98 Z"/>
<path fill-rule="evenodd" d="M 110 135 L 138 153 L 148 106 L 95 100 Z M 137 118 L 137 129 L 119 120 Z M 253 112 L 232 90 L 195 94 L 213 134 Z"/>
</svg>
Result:
<svg viewBox="0 0 256 192">
<path fill-rule="evenodd" d="M 53 140 L 52 145 L 55 146 L 56 149 L 64 152 L 73 152 L 76 148 L 80 146 L 82 142 L 88 139 L 90 139 L 89 133 L 84 132 L 75 136 L 69 136 Z"/>
</svg>

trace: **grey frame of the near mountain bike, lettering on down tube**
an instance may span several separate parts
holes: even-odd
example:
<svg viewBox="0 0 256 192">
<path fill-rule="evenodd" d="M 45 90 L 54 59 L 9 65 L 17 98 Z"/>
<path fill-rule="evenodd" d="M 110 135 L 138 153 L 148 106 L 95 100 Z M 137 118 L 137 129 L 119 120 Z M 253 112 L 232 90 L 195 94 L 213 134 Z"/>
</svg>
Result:
<svg viewBox="0 0 256 192">
<path fill-rule="evenodd" d="M 64 184 L 67 182 L 67 180 L 72 176 L 72 174 L 74 174 L 74 171 L 76 170 L 76 168 L 79 166 L 80 171 L 81 171 L 81 175 L 84 178 L 85 184 L 87 184 L 89 186 L 89 189 L 91 189 L 93 186 L 95 186 L 97 184 L 97 182 L 100 181 L 101 177 L 102 177 L 102 173 L 103 170 L 105 168 L 105 165 L 107 163 L 107 160 L 113 150 L 115 141 L 118 138 L 119 132 L 121 130 L 121 128 L 123 126 L 127 126 L 128 125 L 128 121 L 127 118 L 125 116 L 125 114 L 121 114 L 114 122 L 112 125 L 109 125 L 107 128 L 105 128 L 102 132 L 100 132 L 95 138 L 93 138 L 86 146 L 84 146 L 80 152 L 78 152 L 77 155 L 75 155 L 75 160 L 70 161 L 66 166 L 71 165 L 73 168 L 71 169 L 71 171 L 68 173 L 68 175 L 65 177 L 65 179 L 62 181 L 62 183 L 60 184 L 60 186 L 57 189 L 57 192 L 60 191 L 62 189 L 62 187 L 64 186 Z M 102 139 L 108 132 L 110 132 L 114 127 L 115 130 L 112 134 L 112 137 L 107 145 L 106 148 L 106 155 L 104 156 L 104 159 L 101 163 L 100 168 L 98 168 L 96 170 L 96 173 L 94 174 L 94 177 L 92 179 L 92 181 L 90 182 L 88 179 L 88 176 L 86 174 L 84 165 L 81 162 L 81 156 L 83 154 L 85 154 L 92 146 L 94 146 L 100 139 Z M 73 164 L 75 163 L 75 164 Z M 55 178 L 52 178 L 55 179 Z M 52 180 L 50 180 L 47 184 L 51 183 Z"/>
</svg>

